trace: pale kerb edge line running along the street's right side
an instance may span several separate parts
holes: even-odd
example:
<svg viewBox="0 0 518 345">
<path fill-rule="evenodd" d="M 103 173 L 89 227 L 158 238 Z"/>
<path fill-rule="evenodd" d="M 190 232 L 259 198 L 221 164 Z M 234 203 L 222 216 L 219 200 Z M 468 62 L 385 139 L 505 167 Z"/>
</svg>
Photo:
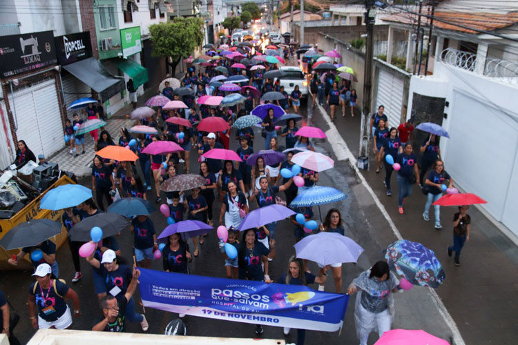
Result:
<svg viewBox="0 0 518 345">
<path fill-rule="evenodd" d="M 334 155 L 336 155 L 336 159 L 339 161 L 342 160 L 348 160 L 350 166 L 353 168 L 353 170 L 356 172 L 356 175 L 361 180 L 361 184 L 367 189 L 367 191 L 372 196 L 372 199 L 374 199 L 374 202 L 376 203 L 376 206 L 378 206 L 379 210 L 383 214 L 383 217 L 387 219 L 388 224 L 390 225 L 390 228 L 392 229 L 392 232 L 396 236 L 397 239 L 403 239 L 403 236 L 401 236 L 401 233 L 396 227 L 396 224 L 394 224 L 394 221 L 392 221 L 392 218 L 388 214 L 385 206 L 381 204 L 380 199 L 376 196 L 376 193 L 374 193 L 374 190 L 367 184 L 367 180 L 365 177 L 363 177 L 363 174 L 360 169 L 358 169 L 358 166 L 356 164 L 356 157 L 352 154 L 351 150 L 349 150 L 349 147 L 347 146 L 347 143 L 345 143 L 345 140 L 342 138 L 340 133 L 338 132 L 338 129 L 334 125 L 334 123 L 329 119 L 329 115 L 327 115 L 327 112 L 322 106 L 318 106 L 318 110 L 320 110 L 320 115 L 323 115 L 323 119 L 325 119 L 327 126 L 329 126 L 329 130 L 325 132 L 325 135 L 327 135 L 327 139 L 329 140 L 329 144 L 331 144 L 331 147 L 333 149 Z M 441 317 L 443 317 L 445 323 L 450 327 L 450 330 L 452 331 L 452 339 L 453 343 L 455 345 L 466 345 L 464 340 L 462 339 L 461 333 L 459 332 L 459 328 L 457 328 L 457 324 L 455 323 L 452 315 L 448 312 L 448 309 L 446 309 L 446 306 L 443 304 L 443 301 L 437 295 L 437 292 L 433 288 L 429 288 L 430 293 L 432 294 L 432 302 L 434 302 L 437 311 L 439 311 L 439 314 Z"/>
</svg>

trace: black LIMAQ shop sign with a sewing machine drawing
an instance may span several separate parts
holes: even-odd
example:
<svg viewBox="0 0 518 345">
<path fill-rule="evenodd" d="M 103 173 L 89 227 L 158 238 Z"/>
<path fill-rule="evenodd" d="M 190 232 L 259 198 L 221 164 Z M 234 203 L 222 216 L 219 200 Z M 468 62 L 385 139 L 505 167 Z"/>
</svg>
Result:
<svg viewBox="0 0 518 345">
<path fill-rule="evenodd" d="M 0 37 L 0 75 L 3 78 L 55 63 L 57 57 L 52 31 Z"/>
</svg>

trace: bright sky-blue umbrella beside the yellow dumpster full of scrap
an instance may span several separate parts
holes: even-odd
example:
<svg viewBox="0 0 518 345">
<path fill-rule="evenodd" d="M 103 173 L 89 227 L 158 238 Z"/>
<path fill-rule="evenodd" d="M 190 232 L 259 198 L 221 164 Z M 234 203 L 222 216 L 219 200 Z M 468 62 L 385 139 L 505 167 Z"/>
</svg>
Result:
<svg viewBox="0 0 518 345">
<path fill-rule="evenodd" d="M 43 198 L 39 208 L 45 210 L 62 210 L 74 207 L 92 197 L 92 190 L 80 184 L 64 184 L 49 190 Z"/>
</svg>

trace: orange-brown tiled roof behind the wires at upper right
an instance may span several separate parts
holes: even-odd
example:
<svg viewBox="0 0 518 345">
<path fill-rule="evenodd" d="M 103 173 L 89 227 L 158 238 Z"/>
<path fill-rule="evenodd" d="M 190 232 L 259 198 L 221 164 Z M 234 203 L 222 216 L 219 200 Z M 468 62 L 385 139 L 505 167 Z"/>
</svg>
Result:
<svg viewBox="0 0 518 345">
<path fill-rule="evenodd" d="M 428 14 L 428 11 L 423 11 L 423 14 Z M 477 30 L 492 31 L 506 26 L 512 26 L 518 23 L 518 12 L 511 12 L 508 14 L 495 13 L 466 13 L 466 12 L 435 12 L 434 17 L 443 19 L 452 24 L 459 24 L 468 28 Z M 392 14 L 381 18 L 382 21 L 390 21 L 392 23 L 412 24 L 417 23 L 417 15 L 411 13 Z M 421 24 L 428 26 L 430 19 L 421 17 Z M 443 30 L 452 30 L 459 32 L 466 32 L 469 34 L 477 34 L 477 31 L 461 28 L 452 24 L 443 23 L 434 20 L 434 27 Z"/>
</svg>

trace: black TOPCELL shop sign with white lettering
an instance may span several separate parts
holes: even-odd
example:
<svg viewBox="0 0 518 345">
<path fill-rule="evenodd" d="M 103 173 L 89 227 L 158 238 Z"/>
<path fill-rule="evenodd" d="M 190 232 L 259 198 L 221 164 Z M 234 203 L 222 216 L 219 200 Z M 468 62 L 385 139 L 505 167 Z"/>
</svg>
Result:
<svg viewBox="0 0 518 345">
<path fill-rule="evenodd" d="M 55 37 L 57 61 L 65 66 L 92 57 L 90 32 L 77 32 Z"/>
</svg>

